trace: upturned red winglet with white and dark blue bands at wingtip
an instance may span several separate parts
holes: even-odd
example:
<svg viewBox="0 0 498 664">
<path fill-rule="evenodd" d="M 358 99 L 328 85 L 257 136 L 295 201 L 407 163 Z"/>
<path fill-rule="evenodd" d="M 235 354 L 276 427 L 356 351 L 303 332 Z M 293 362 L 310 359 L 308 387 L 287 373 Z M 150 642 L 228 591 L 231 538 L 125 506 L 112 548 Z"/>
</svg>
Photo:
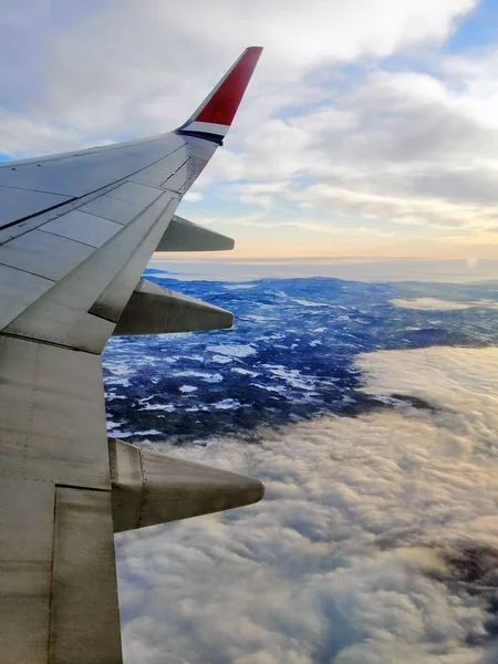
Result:
<svg viewBox="0 0 498 664">
<path fill-rule="evenodd" d="M 221 144 L 242 101 L 261 51 L 260 46 L 246 49 L 194 115 L 178 127 L 176 133 Z"/>
</svg>

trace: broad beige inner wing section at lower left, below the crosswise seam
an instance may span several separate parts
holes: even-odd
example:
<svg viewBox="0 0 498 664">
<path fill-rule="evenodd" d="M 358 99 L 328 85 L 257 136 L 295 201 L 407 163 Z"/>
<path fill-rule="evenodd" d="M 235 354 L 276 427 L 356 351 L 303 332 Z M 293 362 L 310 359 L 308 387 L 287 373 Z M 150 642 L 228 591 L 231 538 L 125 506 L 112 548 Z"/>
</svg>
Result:
<svg viewBox="0 0 498 664">
<path fill-rule="evenodd" d="M 6 336 L 0 357 L 0 658 L 117 663 L 101 360 Z"/>
</svg>

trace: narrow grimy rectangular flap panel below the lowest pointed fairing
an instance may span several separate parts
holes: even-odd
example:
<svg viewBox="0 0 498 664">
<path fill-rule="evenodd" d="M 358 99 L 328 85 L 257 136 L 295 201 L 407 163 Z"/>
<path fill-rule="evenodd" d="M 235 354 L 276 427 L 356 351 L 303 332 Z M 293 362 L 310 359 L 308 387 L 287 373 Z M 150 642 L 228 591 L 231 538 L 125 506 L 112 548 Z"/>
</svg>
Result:
<svg viewBox="0 0 498 664">
<path fill-rule="evenodd" d="M 49 661 L 121 662 L 111 492 L 58 486 L 53 529 Z"/>
</svg>

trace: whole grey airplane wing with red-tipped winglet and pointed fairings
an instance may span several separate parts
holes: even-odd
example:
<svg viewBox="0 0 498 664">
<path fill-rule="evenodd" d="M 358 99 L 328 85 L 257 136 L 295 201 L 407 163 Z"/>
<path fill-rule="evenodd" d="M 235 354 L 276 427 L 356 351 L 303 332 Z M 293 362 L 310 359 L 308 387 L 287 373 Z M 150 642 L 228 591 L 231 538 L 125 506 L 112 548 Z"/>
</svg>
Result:
<svg viewBox="0 0 498 664">
<path fill-rule="evenodd" d="M 170 134 L 0 167 L 0 662 L 122 662 L 113 533 L 255 502 L 259 480 L 107 440 L 111 334 L 228 328 L 142 279 L 156 248 L 234 242 L 176 208 L 261 49 Z"/>
</svg>

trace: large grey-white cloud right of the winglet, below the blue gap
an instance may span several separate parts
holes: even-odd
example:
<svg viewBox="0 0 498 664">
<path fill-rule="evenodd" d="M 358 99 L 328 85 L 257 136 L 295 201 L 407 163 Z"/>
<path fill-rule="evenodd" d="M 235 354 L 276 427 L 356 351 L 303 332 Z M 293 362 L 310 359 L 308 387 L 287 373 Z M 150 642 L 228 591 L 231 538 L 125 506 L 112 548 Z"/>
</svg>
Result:
<svg viewBox="0 0 498 664">
<path fill-rule="evenodd" d="M 249 180 L 228 194 L 266 208 L 298 204 L 310 220 L 326 209 L 407 226 L 496 226 L 497 128 L 470 112 L 467 93 L 427 74 L 373 71 L 346 89 L 335 83 L 329 97 L 255 127 L 242 154 L 219 155 L 211 177 Z M 273 193 L 255 196 L 255 180 Z"/>
</svg>

